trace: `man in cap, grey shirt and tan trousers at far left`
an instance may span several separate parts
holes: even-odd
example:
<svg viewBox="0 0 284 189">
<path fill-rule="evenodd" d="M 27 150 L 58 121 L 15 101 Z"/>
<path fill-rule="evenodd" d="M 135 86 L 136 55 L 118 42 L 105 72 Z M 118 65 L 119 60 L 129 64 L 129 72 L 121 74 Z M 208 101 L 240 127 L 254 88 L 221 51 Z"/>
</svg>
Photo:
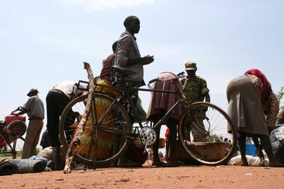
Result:
<svg viewBox="0 0 284 189">
<path fill-rule="evenodd" d="M 25 136 L 25 143 L 23 145 L 22 159 L 27 159 L 36 155 L 36 145 L 40 138 L 41 129 L 43 129 L 43 119 L 45 118 L 45 107 L 43 101 L 38 97 L 38 90 L 32 88 L 27 93 L 29 99 L 20 106 L 17 110 L 19 112 L 12 112 L 12 115 L 22 115 L 27 113 L 29 116 L 29 125 L 27 126 L 27 134 Z"/>
</svg>

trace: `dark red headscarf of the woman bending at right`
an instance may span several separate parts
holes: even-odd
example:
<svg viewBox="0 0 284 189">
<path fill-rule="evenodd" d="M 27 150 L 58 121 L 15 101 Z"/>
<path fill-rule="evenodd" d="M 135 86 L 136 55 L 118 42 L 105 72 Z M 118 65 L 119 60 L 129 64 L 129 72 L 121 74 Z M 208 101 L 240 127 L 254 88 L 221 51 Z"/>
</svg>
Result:
<svg viewBox="0 0 284 189">
<path fill-rule="evenodd" d="M 271 92 L 271 84 L 268 81 L 268 78 L 259 69 L 250 69 L 246 71 L 244 74 L 252 74 L 252 75 L 259 77 L 259 79 L 261 80 L 263 84 L 261 102 L 264 103 L 268 99 L 270 92 Z"/>
</svg>

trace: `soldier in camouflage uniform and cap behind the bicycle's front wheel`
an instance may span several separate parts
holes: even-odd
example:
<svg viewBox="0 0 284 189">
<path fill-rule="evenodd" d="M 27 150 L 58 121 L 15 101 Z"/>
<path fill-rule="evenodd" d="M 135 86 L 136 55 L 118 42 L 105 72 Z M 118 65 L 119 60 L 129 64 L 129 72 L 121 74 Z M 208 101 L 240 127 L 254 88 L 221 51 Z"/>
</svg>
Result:
<svg viewBox="0 0 284 189">
<path fill-rule="evenodd" d="M 187 71 L 187 77 L 182 79 L 182 91 L 187 97 L 187 103 L 191 104 L 198 101 L 204 101 L 204 99 L 206 102 L 210 102 L 209 89 L 207 88 L 205 79 L 196 75 L 196 62 L 185 63 L 185 71 Z M 206 110 L 204 110 L 204 114 L 205 112 Z M 203 115 L 200 115 L 200 120 L 190 121 L 189 118 L 189 125 L 197 124 L 197 122 L 199 123 L 198 125 L 203 125 L 203 118 Z M 199 131 L 191 127 L 186 127 L 185 129 L 185 136 L 187 136 L 185 138 L 186 140 L 190 140 L 190 131 L 193 135 L 194 142 L 205 141 L 205 137 L 202 136 Z"/>
</svg>

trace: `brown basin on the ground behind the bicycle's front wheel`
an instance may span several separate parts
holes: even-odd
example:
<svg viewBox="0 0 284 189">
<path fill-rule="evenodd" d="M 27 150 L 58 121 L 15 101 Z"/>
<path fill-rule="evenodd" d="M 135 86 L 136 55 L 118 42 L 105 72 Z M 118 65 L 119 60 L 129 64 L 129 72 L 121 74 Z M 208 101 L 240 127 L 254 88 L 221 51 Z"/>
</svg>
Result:
<svg viewBox="0 0 284 189">
<path fill-rule="evenodd" d="M 187 145 L 189 145 L 191 151 L 202 160 L 217 161 L 226 156 L 225 142 L 187 142 Z M 219 154 L 215 152 L 216 149 L 220 151 Z M 185 162 L 185 164 L 199 164 L 185 151 L 180 142 L 176 144 L 176 158 Z"/>
</svg>

